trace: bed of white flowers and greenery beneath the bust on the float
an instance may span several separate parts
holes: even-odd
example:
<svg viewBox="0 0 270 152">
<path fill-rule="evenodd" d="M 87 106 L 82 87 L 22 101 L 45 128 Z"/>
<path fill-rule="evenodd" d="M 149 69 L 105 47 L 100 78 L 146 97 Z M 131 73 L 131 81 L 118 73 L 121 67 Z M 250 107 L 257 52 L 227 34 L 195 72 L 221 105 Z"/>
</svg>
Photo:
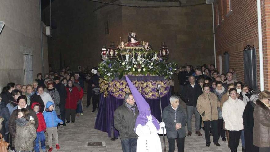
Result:
<svg viewBox="0 0 270 152">
<path fill-rule="evenodd" d="M 118 50 L 116 57 L 116 60 L 106 58 L 99 64 L 100 76 L 106 81 L 121 79 L 124 75 L 157 75 L 168 79 L 177 69 L 175 63 L 166 62 L 153 50 Z"/>
</svg>

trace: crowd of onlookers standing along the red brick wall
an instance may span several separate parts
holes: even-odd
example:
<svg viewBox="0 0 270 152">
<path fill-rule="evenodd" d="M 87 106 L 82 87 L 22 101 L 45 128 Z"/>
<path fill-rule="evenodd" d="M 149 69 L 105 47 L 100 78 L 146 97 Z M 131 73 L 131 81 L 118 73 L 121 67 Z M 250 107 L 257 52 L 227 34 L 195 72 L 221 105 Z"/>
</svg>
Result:
<svg viewBox="0 0 270 152">
<path fill-rule="evenodd" d="M 192 135 L 191 119 L 195 114 L 195 134 L 202 136 L 203 128 L 207 147 L 210 136 L 216 146 L 220 146 L 219 138 L 226 142 L 227 137 L 228 147 L 235 152 L 241 138 L 242 151 L 270 152 L 269 91 L 253 90 L 237 81 L 233 68 L 220 73 L 213 64 L 182 66 L 177 78 L 177 86 L 170 80 L 171 91 L 176 93 L 178 87 L 178 95 L 186 103 L 187 136 Z"/>
</svg>

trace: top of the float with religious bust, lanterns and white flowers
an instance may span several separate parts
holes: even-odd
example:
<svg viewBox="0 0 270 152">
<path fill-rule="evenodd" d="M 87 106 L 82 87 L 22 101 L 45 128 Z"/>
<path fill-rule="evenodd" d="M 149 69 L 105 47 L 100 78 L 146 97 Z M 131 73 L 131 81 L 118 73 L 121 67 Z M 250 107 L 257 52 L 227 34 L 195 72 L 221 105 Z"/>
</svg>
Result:
<svg viewBox="0 0 270 152">
<path fill-rule="evenodd" d="M 125 75 L 163 76 L 168 79 L 177 70 L 175 63 L 167 62 L 169 50 L 164 42 L 160 51 L 154 51 L 148 42 L 137 41 L 135 32 L 129 33 L 128 42 L 122 41 L 117 48 L 114 42 L 108 49 L 104 45 L 100 52 L 102 62 L 98 72 L 108 82 L 119 80 Z"/>
</svg>

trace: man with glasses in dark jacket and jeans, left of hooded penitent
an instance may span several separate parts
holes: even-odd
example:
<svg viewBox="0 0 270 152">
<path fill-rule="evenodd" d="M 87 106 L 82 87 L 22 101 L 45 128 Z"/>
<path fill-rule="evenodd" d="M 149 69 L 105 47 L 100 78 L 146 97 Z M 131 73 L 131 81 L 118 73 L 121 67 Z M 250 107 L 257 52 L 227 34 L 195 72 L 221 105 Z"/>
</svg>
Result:
<svg viewBox="0 0 270 152">
<path fill-rule="evenodd" d="M 136 152 L 138 136 L 134 128 L 138 114 L 133 95 L 125 94 L 123 104 L 114 111 L 114 127 L 120 133 L 123 152 Z"/>
</svg>

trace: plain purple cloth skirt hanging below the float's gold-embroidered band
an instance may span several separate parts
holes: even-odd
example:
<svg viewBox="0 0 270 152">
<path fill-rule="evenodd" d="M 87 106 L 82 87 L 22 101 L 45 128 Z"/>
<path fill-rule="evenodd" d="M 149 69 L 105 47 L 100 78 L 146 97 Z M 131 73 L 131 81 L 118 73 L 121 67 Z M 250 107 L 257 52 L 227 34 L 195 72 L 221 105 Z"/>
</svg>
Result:
<svg viewBox="0 0 270 152">
<path fill-rule="evenodd" d="M 167 95 L 161 98 L 162 110 L 169 105 L 169 98 L 171 92 L 169 91 Z M 160 113 L 160 101 L 159 99 L 147 99 L 147 103 L 151 107 L 151 114 L 161 122 Z M 123 104 L 123 99 L 118 99 L 109 93 L 108 97 L 105 98 L 103 94 L 100 94 L 99 110 L 95 122 L 95 129 L 104 131 L 108 133 L 108 137 L 111 137 L 111 130 L 114 126 L 114 111 Z M 114 137 L 119 136 L 119 132 L 114 128 Z"/>
</svg>

